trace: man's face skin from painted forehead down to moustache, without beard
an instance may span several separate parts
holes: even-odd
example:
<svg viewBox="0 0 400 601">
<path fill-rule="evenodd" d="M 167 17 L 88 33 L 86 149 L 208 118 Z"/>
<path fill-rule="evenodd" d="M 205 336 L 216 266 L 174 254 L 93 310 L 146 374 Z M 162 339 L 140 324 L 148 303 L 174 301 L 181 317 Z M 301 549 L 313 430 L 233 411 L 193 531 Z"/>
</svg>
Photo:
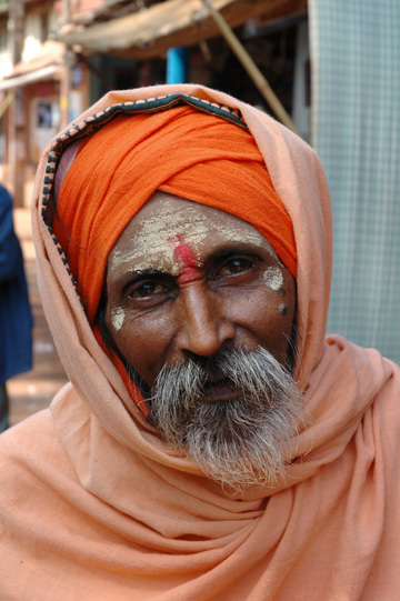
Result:
<svg viewBox="0 0 400 601">
<path fill-rule="evenodd" d="M 266 238 L 229 213 L 153 194 L 110 252 L 107 296 L 109 331 L 149 387 L 163 365 L 227 348 L 261 347 L 286 362 L 293 278 Z M 204 401 L 238 394 L 216 383 Z"/>
</svg>

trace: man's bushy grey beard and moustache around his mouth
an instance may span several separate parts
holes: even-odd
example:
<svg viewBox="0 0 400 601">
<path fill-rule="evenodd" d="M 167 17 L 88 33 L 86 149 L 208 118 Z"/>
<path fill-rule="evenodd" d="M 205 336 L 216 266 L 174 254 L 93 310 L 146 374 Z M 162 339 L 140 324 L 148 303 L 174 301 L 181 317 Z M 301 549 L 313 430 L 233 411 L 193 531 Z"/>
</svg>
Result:
<svg viewBox="0 0 400 601">
<path fill-rule="evenodd" d="M 203 401 L 203 387 L 222 375 L 242 395 Z M 164 365 L 147 400 L 149 421 L 169 445 L 238 492 L 283 475 L 304 413 L 293 378 L 262 348 Z"/>
</svg>

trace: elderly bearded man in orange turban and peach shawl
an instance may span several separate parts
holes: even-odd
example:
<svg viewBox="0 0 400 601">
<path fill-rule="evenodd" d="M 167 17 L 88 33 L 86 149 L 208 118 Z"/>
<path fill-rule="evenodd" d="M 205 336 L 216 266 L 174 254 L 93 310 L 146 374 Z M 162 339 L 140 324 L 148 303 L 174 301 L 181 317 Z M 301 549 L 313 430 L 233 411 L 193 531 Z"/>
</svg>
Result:
<svg viewBox="0 0 400 601">
<path fill-rule="evenodd" d="M 0 598 L 397 599 L 399 369 L 324 339 L 313 151 L 206 88 L 111 93 L 33 226 L 71 382 L 0 440 Z"/>
</svg>

